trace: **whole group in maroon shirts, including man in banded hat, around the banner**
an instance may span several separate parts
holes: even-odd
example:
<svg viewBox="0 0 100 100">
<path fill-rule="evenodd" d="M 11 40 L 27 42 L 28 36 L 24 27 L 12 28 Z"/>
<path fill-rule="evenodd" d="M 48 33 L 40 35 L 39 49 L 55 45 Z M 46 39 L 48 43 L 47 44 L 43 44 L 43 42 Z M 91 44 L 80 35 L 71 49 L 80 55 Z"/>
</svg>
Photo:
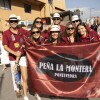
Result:
<svg viewBox="0 0 100 100">
<path fill-rule="evenodd" d="M 20 96 L 20 90 L 15 83 L 14 74 L 17 66 L 20 65 L 24 100 L 29 100 L 27 96 L 28 65 L 25 55 L 24 35 L 38 45 L 67 45 L 76 42 L 87 43 L 100 40 L 98 34 L 89 26 L 82 23 L 77 15 L 73 15 L 72 21 L 68 22 L 66 26 L 60 25 L 61 16 L 59 13 L 54 13 L 52 20 L 53 25 L 48 30 L 45 30 L 42 19 L 37 17 L 30 31 L 18 27 L 19 19 L 15 14 L 10 15 L 7 20 L 10 28 L 3 32 L 2 44 L 4 49 L 9 53 L 14 91 L 18 97 Z M 41 100 L 38 93 L 35 93 L 35 96 L 37 100 Z"/>
</svg>

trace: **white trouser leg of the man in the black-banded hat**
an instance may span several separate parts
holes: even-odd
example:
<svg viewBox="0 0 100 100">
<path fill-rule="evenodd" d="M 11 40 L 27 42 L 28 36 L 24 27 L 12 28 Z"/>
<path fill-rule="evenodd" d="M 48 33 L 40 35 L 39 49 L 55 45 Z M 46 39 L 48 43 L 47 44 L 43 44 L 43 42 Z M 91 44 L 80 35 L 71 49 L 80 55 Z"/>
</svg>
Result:
<svg viewBox="0 0 100 100">
<path fill-rule="evenodd" d="M 14 65 L 15 65 L 15 61 L 10 61 L 14 91 L 18 91 L 19 89 L 17 88 L 17 84 L 15 83 L 15 76 L 14 76 L 14 70 L 13 70 L 14 69 Z"/>
</svg>

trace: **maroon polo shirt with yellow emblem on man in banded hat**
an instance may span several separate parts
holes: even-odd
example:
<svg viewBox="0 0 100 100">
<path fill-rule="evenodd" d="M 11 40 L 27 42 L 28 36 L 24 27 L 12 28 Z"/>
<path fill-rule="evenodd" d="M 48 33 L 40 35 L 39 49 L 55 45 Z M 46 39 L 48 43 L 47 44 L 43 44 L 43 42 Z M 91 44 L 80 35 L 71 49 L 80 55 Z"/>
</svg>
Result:
<svg viewBox="0 0 100 100">
<path fill-rule="evenodd" d="M 8 29 L 3 33 L 3 45 L 7 45 L 13 51 L 21 51 L 22 54 L 24 54 L 22 49 L 22 45 L 24 44 L 24 35 L 29 37 L 30 32 L 23 28 L 19 28 L 18 34 L 14 34 L 10 29 Z M 9 59 L 13 61 L 16 59 L 16 56 L 9 53 Z"/>
</svg>

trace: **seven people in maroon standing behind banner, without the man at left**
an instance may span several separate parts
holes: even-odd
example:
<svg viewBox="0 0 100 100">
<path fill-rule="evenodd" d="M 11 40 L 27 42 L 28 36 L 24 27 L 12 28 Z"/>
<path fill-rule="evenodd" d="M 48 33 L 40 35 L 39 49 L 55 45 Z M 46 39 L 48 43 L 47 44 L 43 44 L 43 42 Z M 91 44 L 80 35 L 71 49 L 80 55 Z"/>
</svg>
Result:
<svg viewBox="0 0 100 100">
<path fill-rule="evenodd" d="M 96 31 L 91 29 L 85 23 L 82 23 L 81 19 L 77 15 L 72 16 L 72 22 L 68 22 L 66 26 L 60 25 L 60 14 L 55 13 L 52 19 L 53 25 L 48 29 L 48 31 L 44 32 L 42 19 L 36 18 L 30 36 L 33 41 L 38 44 L 40 44 L 40 42 L 41 44 L 72 44 L 76 42 L 97 42 L 100 40 L 100 36 Z M 39 21 L 41 21 L 41 23 L 37 23 Z M 37 39 L 36 36 L 38 36 Z"/>
</svg>

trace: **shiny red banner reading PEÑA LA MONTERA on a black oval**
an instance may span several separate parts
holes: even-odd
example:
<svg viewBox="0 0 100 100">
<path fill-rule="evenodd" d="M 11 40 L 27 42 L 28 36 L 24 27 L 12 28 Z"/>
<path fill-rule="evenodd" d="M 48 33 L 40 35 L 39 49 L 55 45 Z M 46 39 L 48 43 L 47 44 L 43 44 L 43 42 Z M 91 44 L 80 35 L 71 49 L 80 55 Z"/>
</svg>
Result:
<svg viewBox="0 0 100 100">
<path fill-rule="evenodd" d="M 30 90 L 64 97 L 100 97 L 100 42 L 36 45 L 25 38 Z"/>
</svg>

